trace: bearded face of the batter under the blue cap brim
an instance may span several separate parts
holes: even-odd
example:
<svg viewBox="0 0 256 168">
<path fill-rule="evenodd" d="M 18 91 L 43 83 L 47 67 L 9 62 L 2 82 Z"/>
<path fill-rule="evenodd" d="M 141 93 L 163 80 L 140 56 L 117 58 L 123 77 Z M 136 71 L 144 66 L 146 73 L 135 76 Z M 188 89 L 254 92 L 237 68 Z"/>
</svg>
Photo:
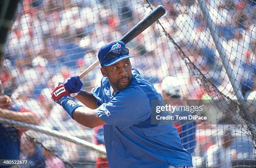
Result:
<svg viewBox="0 0 256 168">
<path fill-rule="evenodd" d="M 124 59 L 116 64 L 101 68 L 102 75 L 108 77 L 108 81 L 114 91 L 126 89 L 132 80 L 130 59 Z"/>
</svg>

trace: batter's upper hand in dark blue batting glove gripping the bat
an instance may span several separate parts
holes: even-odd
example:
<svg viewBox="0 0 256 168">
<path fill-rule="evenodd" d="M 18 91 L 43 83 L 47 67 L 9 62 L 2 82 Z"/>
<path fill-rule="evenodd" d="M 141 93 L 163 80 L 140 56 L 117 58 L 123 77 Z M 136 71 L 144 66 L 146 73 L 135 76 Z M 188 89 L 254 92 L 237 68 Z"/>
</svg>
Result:
<svg viewBox="0 0 256 168">
<path fill-rule="evenodd" d="M 83 83 L 79 76 L 69 76 L 64 82 L 64 86 L 70 93 L 70 96 L 76 96 L 81 92 Z"/>
</svg>

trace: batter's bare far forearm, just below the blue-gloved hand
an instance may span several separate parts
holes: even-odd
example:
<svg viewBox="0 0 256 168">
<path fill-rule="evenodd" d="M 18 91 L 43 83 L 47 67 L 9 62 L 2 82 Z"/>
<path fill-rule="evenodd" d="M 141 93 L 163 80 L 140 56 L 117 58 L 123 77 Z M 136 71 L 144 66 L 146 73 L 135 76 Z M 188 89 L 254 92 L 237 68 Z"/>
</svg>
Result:
<svg viewBox="0 0 256 168">
<path fill-rule="evenodd" d="M 81 92 L 75 98 L 90 109 L 97 109 L 96 99 L 90 92 L 81 90 Z"/>
</svg>

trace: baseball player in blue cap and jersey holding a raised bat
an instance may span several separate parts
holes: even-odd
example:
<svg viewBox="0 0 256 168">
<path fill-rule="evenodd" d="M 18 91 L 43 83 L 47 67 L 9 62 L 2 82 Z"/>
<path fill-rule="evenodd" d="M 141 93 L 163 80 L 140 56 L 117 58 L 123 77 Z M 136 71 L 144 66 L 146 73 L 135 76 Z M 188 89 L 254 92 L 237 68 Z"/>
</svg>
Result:
<svg viewBox="0 0 256 168">
<path fill-rule="evenodd" d="M 98 53 L 103 75 L 100 87 L 86 92 L 81 90 L 79 76 L 71 76 L 59 83 L 52 98 L 80 124 L 104 125 L 110 168 L 192 167 L 192 157 L 172 123 L 152 123 L 153 100 L 164 102 L 153 85 L 131 68 L 131 57 L 122 41 L 102 46 Z M 70 96 L 94 110 L 88 112 Z"/>
</svg>

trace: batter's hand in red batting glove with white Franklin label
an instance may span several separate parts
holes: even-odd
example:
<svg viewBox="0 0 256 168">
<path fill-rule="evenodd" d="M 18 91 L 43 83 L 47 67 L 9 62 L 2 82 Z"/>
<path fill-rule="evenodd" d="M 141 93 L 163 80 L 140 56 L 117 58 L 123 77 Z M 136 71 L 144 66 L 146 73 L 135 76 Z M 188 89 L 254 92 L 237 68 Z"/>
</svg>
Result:
<svg viewBox="0 0 256 168">
<path fill-rule="evenodd" d="M 59 86 L 57 86 L 54 91 L 51 92 L 52 99 L 54 99 L 54 101 L 60 105 L 64 99 L 69 98 L 69 95 L 69 91 L 62 83 L 59 83 Z"/>
</svg>

